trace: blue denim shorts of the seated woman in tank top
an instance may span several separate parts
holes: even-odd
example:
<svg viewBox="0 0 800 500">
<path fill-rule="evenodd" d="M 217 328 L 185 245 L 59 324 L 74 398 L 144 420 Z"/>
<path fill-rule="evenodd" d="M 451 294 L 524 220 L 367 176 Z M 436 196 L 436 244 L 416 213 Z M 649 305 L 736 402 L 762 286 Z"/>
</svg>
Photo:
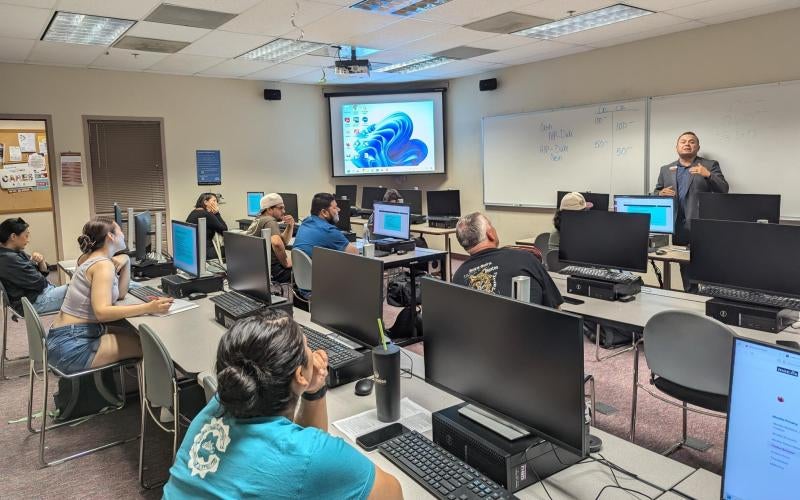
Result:
<svg viewBox="0 0 800 500">
<path fill-rule="evenodd" d="M 47 334 L 47 362 L 64 373 L 86 370 L 92 366 L 106 333 L 102 323 L 78 323 L 51 328 Z"/>
</svg>

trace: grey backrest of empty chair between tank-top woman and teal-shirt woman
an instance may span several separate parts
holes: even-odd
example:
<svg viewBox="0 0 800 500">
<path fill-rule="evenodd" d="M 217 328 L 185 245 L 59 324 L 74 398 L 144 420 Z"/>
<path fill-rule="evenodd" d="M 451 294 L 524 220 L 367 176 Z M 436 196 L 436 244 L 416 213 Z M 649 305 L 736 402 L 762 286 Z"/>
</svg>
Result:
<svg viewBox="0 0 800 500">
<path fill-rule="evenodd" d="M 139 327 L 142 343 L 142 369 L 144 369 L 144 395 L 155 406 L 172 408 L 174 402 L 172 382 L 175 365 L 156 333 L 147 325 Z"/>
</svg>

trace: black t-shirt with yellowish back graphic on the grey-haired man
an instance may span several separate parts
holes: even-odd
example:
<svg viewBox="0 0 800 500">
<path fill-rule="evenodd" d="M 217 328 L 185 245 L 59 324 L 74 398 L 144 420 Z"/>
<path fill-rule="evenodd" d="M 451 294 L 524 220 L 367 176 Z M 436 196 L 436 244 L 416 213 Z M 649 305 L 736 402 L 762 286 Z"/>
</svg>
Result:
<svg viewBox="0 0 800 500">
<path fill-rule="evenodd" d="M 542 263 L 530 252 L 490 248 L 472 255 L 453 275 L 453 283 L 511 297 L 511 280 L 530 276 L 531 302 L 548 307 L 564 303 Z"/>
</svg>

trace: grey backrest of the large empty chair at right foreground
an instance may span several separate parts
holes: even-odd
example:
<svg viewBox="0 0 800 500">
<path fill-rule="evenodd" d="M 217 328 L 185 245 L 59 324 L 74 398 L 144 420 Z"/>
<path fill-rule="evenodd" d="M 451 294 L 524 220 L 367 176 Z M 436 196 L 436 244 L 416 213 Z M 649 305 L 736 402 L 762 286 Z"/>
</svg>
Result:
<svg viewBox="0 0 800 500">
<path fill-rule="evenodd" d="M 693 311 L 662 311 L 644 327 L 650 370 L 689 389 L 728 395 L 733 330 Z"/>
</svg>

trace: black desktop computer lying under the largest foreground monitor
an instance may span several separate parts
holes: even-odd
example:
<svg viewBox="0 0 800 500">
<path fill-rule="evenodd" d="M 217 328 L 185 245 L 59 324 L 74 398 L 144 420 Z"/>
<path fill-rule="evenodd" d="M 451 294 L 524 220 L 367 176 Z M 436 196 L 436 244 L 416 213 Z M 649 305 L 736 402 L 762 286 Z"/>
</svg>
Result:
<svg viewBox="0 0 800 500">
<path fill-rule="evenodd" d="M 465 405 L 433 414 L 433 441 L 511 493 L 582 460 L 536 436 L 509 441 L 458 413 Z"/>
</svg>

